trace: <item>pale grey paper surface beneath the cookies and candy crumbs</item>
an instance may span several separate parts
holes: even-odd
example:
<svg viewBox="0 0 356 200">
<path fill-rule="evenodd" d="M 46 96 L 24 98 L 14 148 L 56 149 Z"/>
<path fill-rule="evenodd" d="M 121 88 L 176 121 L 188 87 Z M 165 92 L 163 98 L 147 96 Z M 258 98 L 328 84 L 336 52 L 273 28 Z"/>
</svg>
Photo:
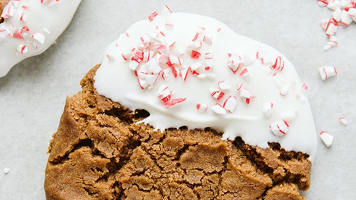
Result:
<svg viewBox="0 0 356 200">
<path fill-rule="evenodd" d="M 17 64 L 0 78 L 0 199 L 44 200 L 47 146 L 66 96 L 120 33 L 164 5 L 176 12 L 207 15 L 237 33 L 271 45 L 289 58 L 307 91 L 316 130 L 335 137 L 330 148 L 318 140 L 307 199 L 355 199 L 356 23 L 340 27 L 339 46 L 324 51 L 319 20 L 331 10 L 316 0 L 83 0 L 72 23 L 45 53 Z M 1 44 L 0 44 L 1 45 Z M 320 79 L 318 67 L 335 66 L 336 77 Z M 344 116 L 349 125 L 339 123 Z M 10 168 L 8 174 L 2 173 Z"/>
</svg>

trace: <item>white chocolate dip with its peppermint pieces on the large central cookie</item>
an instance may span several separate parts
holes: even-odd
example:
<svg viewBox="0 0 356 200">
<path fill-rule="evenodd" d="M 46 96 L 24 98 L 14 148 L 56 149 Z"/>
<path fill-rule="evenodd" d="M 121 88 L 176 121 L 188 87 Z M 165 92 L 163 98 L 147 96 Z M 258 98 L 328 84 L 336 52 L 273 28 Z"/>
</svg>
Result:
<svg viewBox="0 0 356 200">
<path fill-rule="evenodd" d="M 276 49 L 240 36 L 206 16 L 172 13 L 132 25 L 105 50 L 96 71 L 99 94 L 156 129 L 210 127 L 222 139 L 278 142 L 314 160 L 316 131 L 301 82 Z"/>
</svg>

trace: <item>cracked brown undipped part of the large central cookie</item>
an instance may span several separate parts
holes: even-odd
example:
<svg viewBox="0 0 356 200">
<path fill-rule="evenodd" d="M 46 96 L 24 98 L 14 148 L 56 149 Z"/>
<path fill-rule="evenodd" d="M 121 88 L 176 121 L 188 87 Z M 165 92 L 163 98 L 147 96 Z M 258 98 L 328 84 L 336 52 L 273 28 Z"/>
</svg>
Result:
<svg viewBox="0 0 356 200">
<path fill-rule="evenodd" d="M 132 112 L 95 91 L 98 67 L 67 97 L 49 144 L 48 200 L 305 199 L 299 190 L 309 188 L 308 155 L 221 140 L 209 128 L 138 124 L 145 110 Z"/>
</svg>

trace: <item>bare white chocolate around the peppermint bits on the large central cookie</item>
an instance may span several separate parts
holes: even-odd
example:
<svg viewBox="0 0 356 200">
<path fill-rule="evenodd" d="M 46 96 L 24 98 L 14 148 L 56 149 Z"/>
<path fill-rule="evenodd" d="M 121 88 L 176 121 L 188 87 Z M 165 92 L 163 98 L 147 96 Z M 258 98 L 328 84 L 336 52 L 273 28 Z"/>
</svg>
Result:
<svg viewBox="0 0 356 200">
<path fill-rule="evenodd" d="M 174 25 L 173 29 L 165 28 L 167 21 Z M 165 34 L 165 37 L 160 35 L 159 38 L 176 41 L 173 52 L 179 52 L 176 49 L 178 47 L 183 49 L 185 54 L 180 58 L 185 66 L 190 66 L 197 61 L 204 64 L 204 54 L 211 52 L 215 61 L 216 77 L 213 80 L 199 79 L 189 74 L 187 80 L 183 81 L 181 77 L 174 78 L 171 73 L 168 81 L 160 77 L 151 89 L 142 90 L 135 73 L 128 67 L 129 60 L 125 61 L 121 53 L 125 54 L 133 47 L 137 47 L 140 37 L 145 33 L 157 31 L 156 26 Z M 192 44 L 199 26 L 205 27 L 204 34 L 211 35 L 213 42 L 211 45 L 203 42 L 202 47 L 197 49 L 201 53 L 197 60 L 190 57 L 191 50 L 186 47 Z M 217 31 L 218 29 L 220 31 Z M 300 88 L 301 81 L 293 65 L 276 49 L 240 36 L 213 18 L 189 13 L 172 13 L 169 20 L 162 16 L 155 17 L 153 21 L 142 20 L 133 24 L 126 33 L 129 37 L 121 34 L 119 39 L 105 50 L 103 62 L 94 77 L 94 86 L 99 94 L 131 110 L 147 110 L 150 116 L 143 122 L 151 124 L 156 129 L 180 126 L 187 126 L 189 129 L 211 127 L 224 133 L 222 139 L 234 140 L 235 137 L 241 136 L 247 144 L 262 148 L 268 147 L 267 142 L 278 142 L 287 151 L 308 153 L 309 160 L 313 162 L 317 137 L 309 102 L 305 97 L 305 90 Z M 266 60 L 269 58 L 272 61 L 261 64 L 261 60 L 256 59 L 257 51 L 263 53 Z M 233 74 L 227 66 L 229 52 L 245 55 L 245 58 L 250 57 L 253 61 L 241 66 L 237 73 Z M 271 73 L 269 66 L 277 56 L 281 56 L 285 66 L 282 72 L 273 76 L 274 72 Z M 160 66 L 167 67 L 165 64 Z M 245 67 L 251 76 L 249 80 L 239 75 Z M 204 68 L 204 65 L 200 68 Z M 225 90 L 225 96 L 216 100 L 211 96 L 209 88 L 220 90 L 219 81 L 227 81 L 231 89 Z M 246 104 L 244 99 L 239 97 L 237 91 L 239 83 L 243 83 L 243 87 L 256 96 L 250 104 Z M 186 101 L 176 107 L 165 107 L 161 99 L 155 95 L 162 85 L 168 86 L 169 90 L 173 91 L 172 98 L 187 98 Z M 281 96 L 280 92 L 286 85 L 289 86 L 288 94 Z M 237 98 L 235 110 L 232 113 L 226 112 L 225 115 L 212 112 L 211 106 L 215 103 L 223 105 L 229 95 Z M 206 113 L 197 110 L 198 102 L 209 106 Z M 273 102 L 273 110 L 270 117 L 266 117 L 262 107 L 264 103 L 269 102 Z M 276 136 L 269 126 L 281 119 L 288 121 L 289 131 L 283 136 Z"/>
</svg>

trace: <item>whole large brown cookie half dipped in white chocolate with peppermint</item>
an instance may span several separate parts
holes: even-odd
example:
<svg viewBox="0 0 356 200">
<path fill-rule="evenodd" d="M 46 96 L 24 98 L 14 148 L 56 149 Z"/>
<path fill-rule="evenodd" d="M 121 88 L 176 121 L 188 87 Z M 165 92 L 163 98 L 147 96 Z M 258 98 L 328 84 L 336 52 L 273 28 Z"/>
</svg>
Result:
<svg viewBox="0 0 356 200">
<path fill-rule="evenodd" d="M 104 55 L 67 98 L 47 199 L 304 199 L 316 133 L 277 50 L 165 7 Z"/>
</svg>

